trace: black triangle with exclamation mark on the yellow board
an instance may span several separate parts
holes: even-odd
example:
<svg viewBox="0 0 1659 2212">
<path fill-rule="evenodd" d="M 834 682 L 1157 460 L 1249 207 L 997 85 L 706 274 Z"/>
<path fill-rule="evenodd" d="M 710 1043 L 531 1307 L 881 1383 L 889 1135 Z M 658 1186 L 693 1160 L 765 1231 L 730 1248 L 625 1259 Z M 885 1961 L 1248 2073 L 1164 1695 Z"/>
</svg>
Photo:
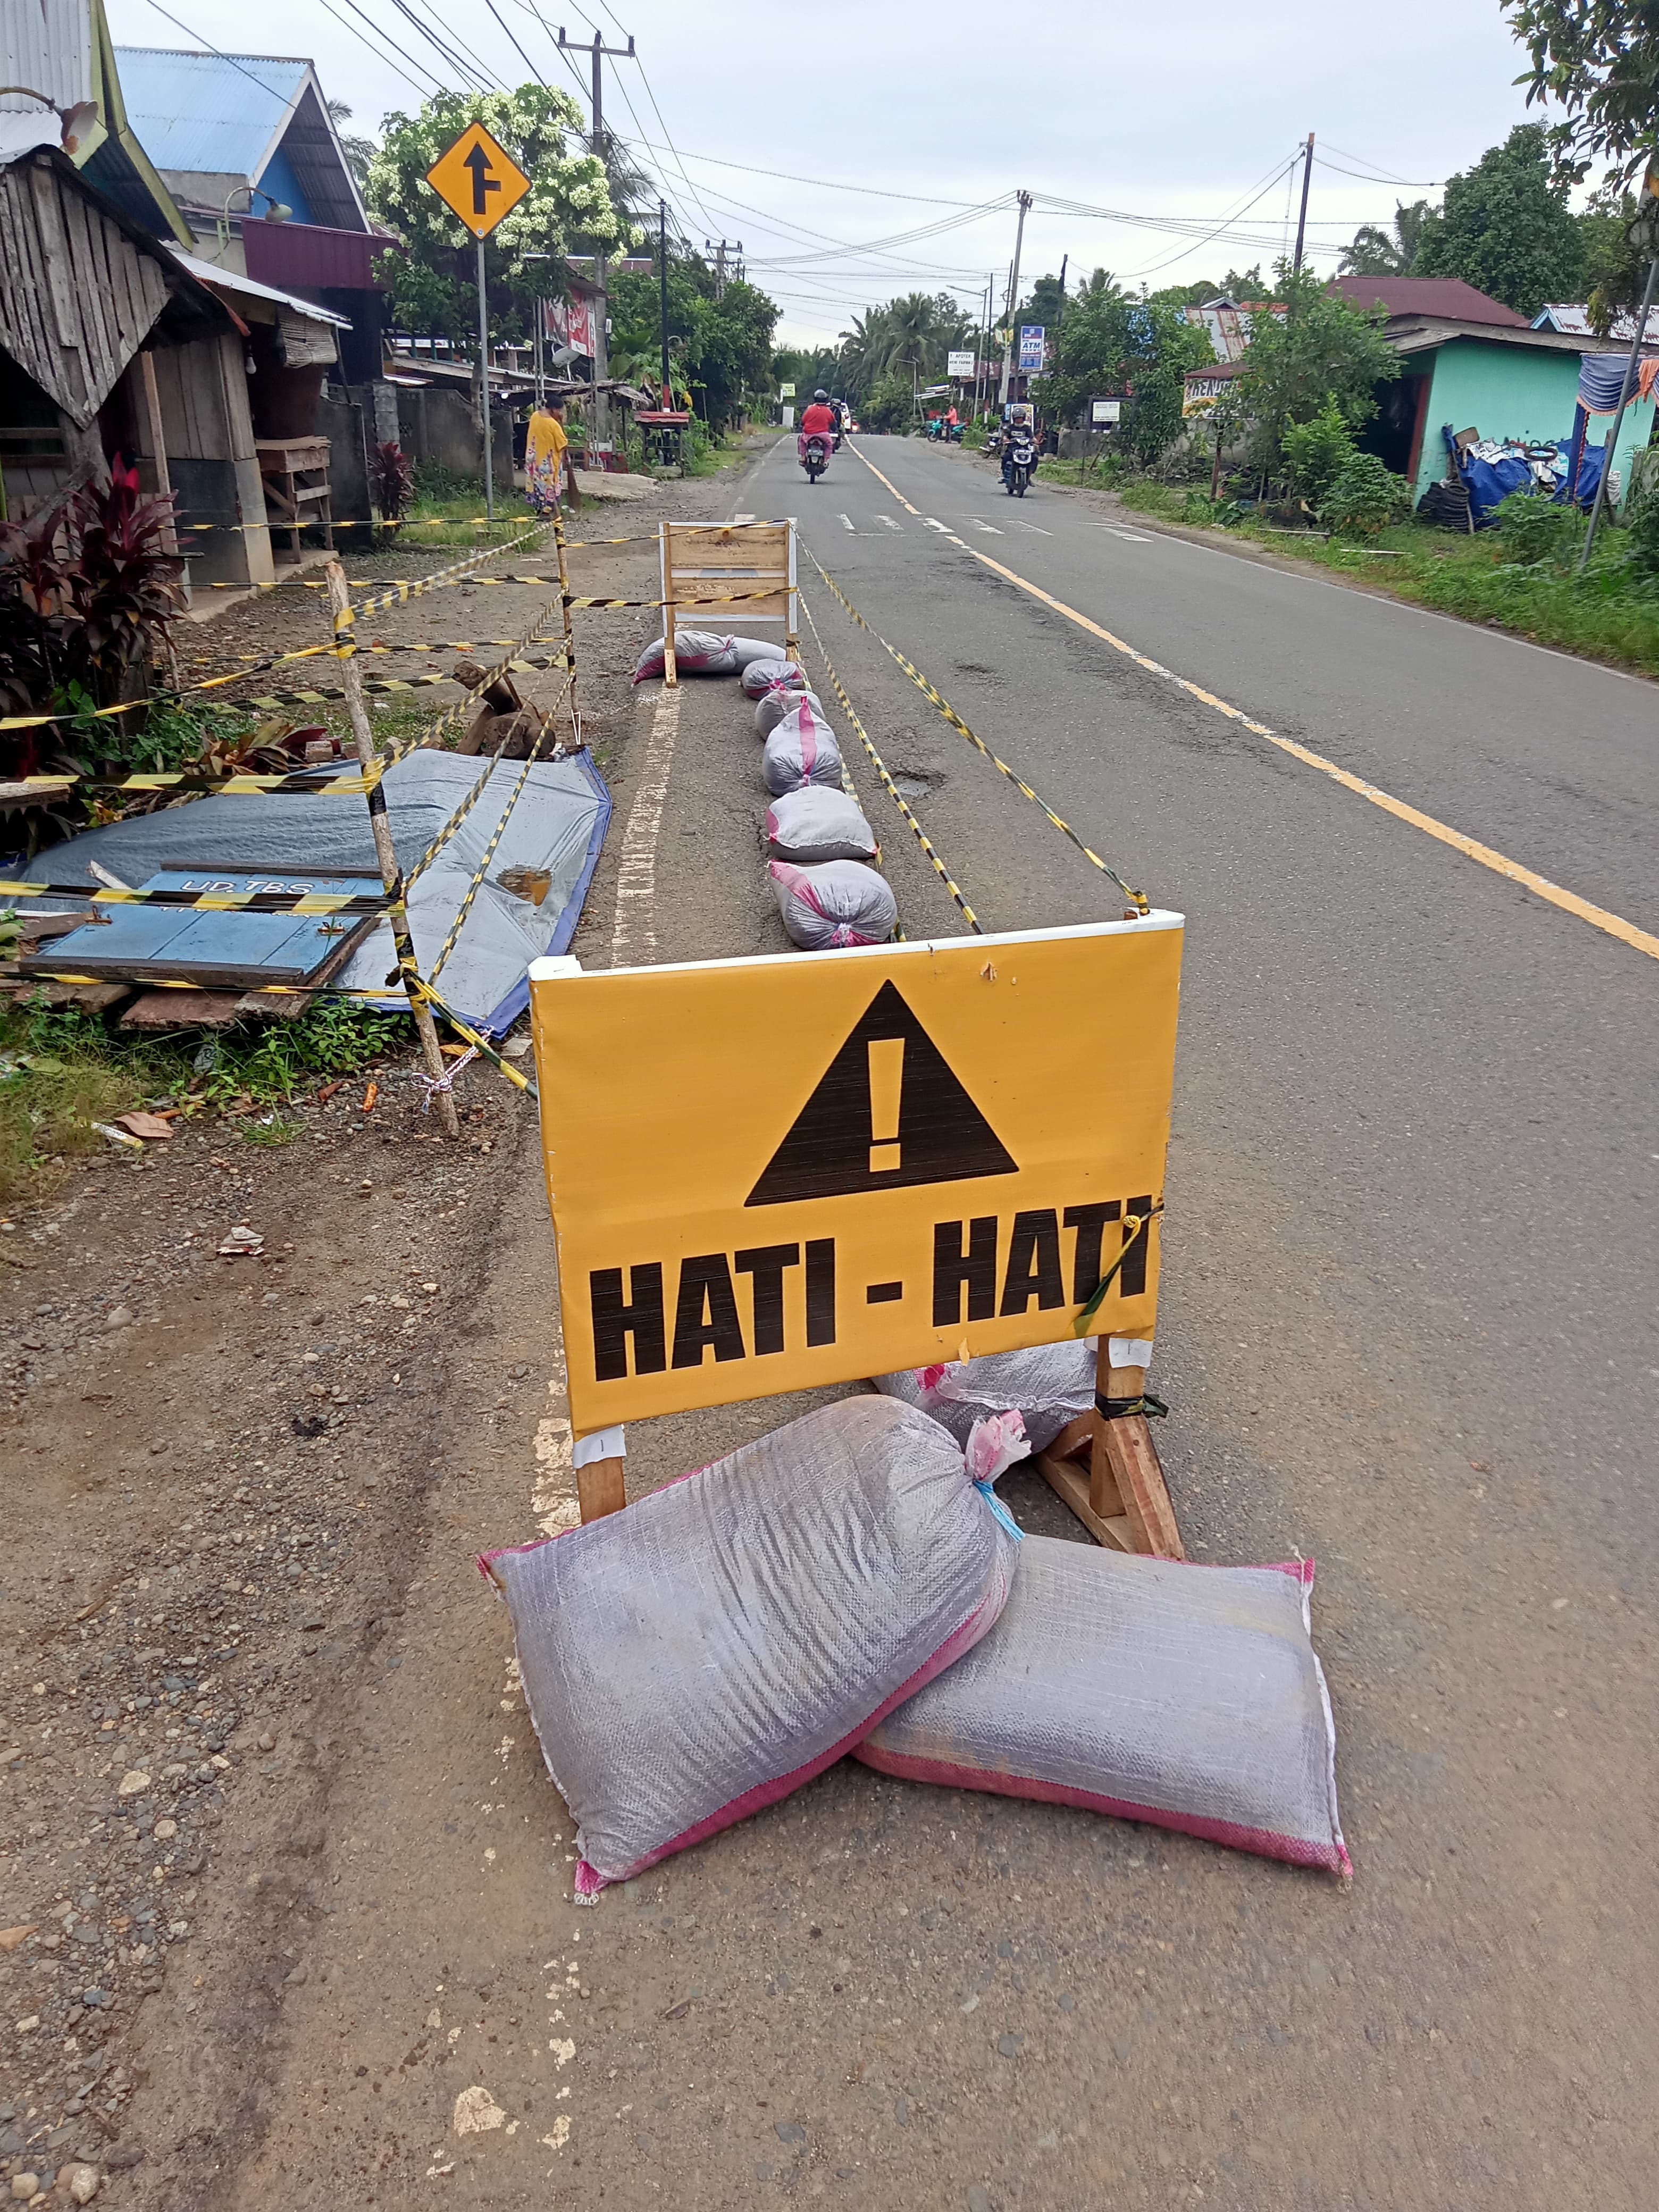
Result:
<svg viewBox="0 0 1659 2212">
<path fill-rule="evenodd" d="M 894 1042 L 900 1053 L 872 1053 Z M 876 1064 L 880 1126 L 872 1095 Z M 845 1199 L 975 1175 L 1018 1175 L 1018 1164 L 898 989 L 885 982 L 743 1203 Z"/>
</svg>

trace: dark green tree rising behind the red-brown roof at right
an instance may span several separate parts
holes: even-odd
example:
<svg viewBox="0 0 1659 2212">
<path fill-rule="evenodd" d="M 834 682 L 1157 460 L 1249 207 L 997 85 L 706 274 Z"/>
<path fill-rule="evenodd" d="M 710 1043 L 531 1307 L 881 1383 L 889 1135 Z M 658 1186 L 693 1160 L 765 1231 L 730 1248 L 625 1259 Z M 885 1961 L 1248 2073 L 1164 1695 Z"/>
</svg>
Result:
<svg viewBox="0 0 1659 2212">
<path fill-rule="evenodd" d="M 1584 234 L 1551 175 L 1544 124 L 1515 124 L 1462 177 L 1447 179 L 1440 212 L 1422 223 L 1418 276 L 1462 276 L 1515 314 L 1546 299 L 1582 299 Z"/>
</svg>

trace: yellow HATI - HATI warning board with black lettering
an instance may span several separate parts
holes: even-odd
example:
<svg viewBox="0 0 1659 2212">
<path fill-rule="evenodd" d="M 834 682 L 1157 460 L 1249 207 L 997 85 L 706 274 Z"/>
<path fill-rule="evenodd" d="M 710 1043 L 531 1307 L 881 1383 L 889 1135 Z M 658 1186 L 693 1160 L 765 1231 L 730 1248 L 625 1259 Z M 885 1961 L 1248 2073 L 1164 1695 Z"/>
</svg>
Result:
<svg viewBox="0 0 1659 2212">
<path fill-rule="evenodd" d="M 1150 1338 L 1181 916 L 531 967 L 577 1436 Z"/>
</svg>

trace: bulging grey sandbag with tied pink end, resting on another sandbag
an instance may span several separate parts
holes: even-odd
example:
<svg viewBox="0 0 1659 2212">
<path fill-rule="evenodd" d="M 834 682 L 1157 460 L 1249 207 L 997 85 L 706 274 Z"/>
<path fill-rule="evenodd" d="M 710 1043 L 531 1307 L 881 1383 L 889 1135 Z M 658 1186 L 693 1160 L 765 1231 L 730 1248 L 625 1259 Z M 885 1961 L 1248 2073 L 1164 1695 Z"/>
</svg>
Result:
<svg viewBox="0 0 1659 2212">
<path fill-rule="evenodd" d="M 845 1398 L 491 1553 L 580 1898 L 772 1805 L 973 1646 L 1015 1544 L 951 1438 Z"/>
</svg>

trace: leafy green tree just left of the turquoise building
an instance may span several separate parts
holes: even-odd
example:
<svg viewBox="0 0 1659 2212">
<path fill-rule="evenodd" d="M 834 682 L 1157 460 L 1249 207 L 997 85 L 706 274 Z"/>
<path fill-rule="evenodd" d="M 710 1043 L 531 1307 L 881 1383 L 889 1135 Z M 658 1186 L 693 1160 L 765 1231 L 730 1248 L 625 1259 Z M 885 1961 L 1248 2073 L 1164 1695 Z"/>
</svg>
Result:
<svg viewBox="0 0 1659 2212">
<path fill-rule="evenodd" d="M 1234 389 L 1252 425 L 1250 467 L 1263 482 L 1283 484 L 1287 434 L 1329 409 L 1349 434 L 1369 422 L 1376 385 L 1400 374 L 1400 356 L 1383 336 L 1380 310 L 1352 307 L 1312 270 L 1281 261 L 1274 290 L 1285 312 L 1252 319 Z"/>
</svg>

